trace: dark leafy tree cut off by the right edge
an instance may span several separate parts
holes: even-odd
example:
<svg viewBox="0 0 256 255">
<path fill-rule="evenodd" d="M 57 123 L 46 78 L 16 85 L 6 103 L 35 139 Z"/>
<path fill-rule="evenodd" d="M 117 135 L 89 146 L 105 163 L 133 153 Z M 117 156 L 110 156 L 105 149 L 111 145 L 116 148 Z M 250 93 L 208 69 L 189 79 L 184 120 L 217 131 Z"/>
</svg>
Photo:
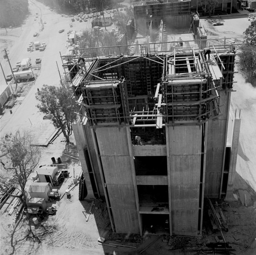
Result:
<svg viewBox="0 0 256 255">
<path fill-rule="evenodd" d="M 256 85 L 256 21 L 244 32 L 244 42 L 240 47 L 239 67 L 246 80 Z"/>
</svg>

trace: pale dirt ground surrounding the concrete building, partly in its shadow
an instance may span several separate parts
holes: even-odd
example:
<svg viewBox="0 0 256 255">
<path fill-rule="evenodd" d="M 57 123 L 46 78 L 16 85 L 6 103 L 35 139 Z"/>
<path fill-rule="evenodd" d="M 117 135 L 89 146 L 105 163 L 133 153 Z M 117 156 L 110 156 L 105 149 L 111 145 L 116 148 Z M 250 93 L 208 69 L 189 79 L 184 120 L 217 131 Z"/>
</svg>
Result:
<svg viewBox="0 0 256 255">
<path fill-rule="evenodd" d="M 130 5 L 130 1 L 125 1 L 126 5 Z M 33 21 L 33 14 L 38 10 L 42 15 L 42 19 L 47 21 L 44 31 L 41 31 L 38 40 L 47 43 L 45 52 L 29 53 L 33 60 L 36 57 L 42 58 L 42 68 L 38 79 L 34 85 L 27 90 L 26 98 L 21 104 L 16 104 L 14 113 L 7 113 L 1 119 L 1 134 L 15 129 L 30 129 L 32 133 L 38 127 L 44 128 L 42 115 L 34 107 L 36 101 L 34 94 L 37 88 L 41 88 L 43 84 L 58 85 L 59 77 L 55 61 L 61 66 L 59 60 L 59 51 L 62 54 L 66 52 L 66 31 L 58 34 L 61 28 L 69 30 L 70 20 L 62 18 L 59 14 L 49 11 L 49 8 L 30 1 L 31 16 L 29 16 L 25 25 L 21 28 L 8 30 L 8 35 L 1 36 L 1 50 L 6 47 L 10 50 L 12 63 L 27 56 L 26 45 L 33 39 L 32 34 L 39 29 L 38 22 Z M 243 31 L 248 27 L 249 21 L 246 16 L 220 16 L 218 17 L 224 22 L 224 26 L 214 27 L 211 25 L 213 20 L 201 19 L 201 25 L 208 30 L 208 38 L 235 38 L 237 42 L 243 39 Z M 82 30 L 86 27 L 84 23 L 75 23 L 76 30 Z M 54 29 L 50 29 L 50 28 Z M 1 33 L 3 31 L 1 30 Z M 63 43 L 56 43 L 63 41 Z M 4 44 L 3 44 L 4 43 Z M 23 50 L 20 50 L 23 49 Z M 1 57 L 2 60 L 2 57 Z M 7 65 L 4 65 L 4 69 Z M 1 74 L 2 75 L 2 74 Z M 236 249 L 235 254 L 256 254 L 256 157 L 255 143 L 252 141 L 256 137 L 256 88 L 251 84 L 245 83 L 240 74 L 236 74 L 234 80 L 234 89 L 231 97 L 231 108 L 241 109 L 241 133 L 240 147 L 237 163 L 237 176 L 234 181 L 234 196 L 232 201 L 223 203 L 223 213 L 228 221 L 229 231 L 223 231 L 225 241 Z M 33 106 L 33 107 L 31 107 Z M 5 119 L 6 118 L 6 119 Z M 32 125 L 31 125 L 31 123 Z M 4 125 L 3 125 L 4 123 Z M 67 179 L 60 187 L 60 193 L 63 194 L 72 182 L 74 176 L 79 175 L 81 169 L 78 160 L 62 155 L 65 151 L 65 143 L 63 136 L 59 135 L 56 140 L 47 148 L 42 148 L 42 157 L 40 165 L 50 164 L 51 157 L 61 157 L 62 161 L 68 164 L 68 170 L 71 178 Z M 74 141 L 73 141 L 74 142 Z M 72 155 L 77 155 L 74 150 L 70 151 Z M 220 233 L 212 233 L 205 223 L 203 236 L 200 238 L 179 238 L 174 241 L 177 243 L 172 249 L 168 245 L 169 237 L 161 236 L 157 240 L 157 236 L 145 233 L 143 237 L 138 235 L 115 235 L 111 233 L 110 221 L 103 201 L 95 201 L 92 209 L 92 215 L 86 220 L 84 214 L 89 212 L 91 202 L 78 200 L 78 186 L 71 191 L 71 201 L 66 196 L 60 201 L 55 201 L 53 205 L 57 208 L 55 216 L 49 216 L 38 226 L 32 224 L 32 233 L 28 236 L 28 221 L 22 218 L 14 235 L 12 235 L 14 216 L 3 213 L 4 208 L 0 211 L 0 253 L 1 254 L 139 254 L 148 244 L 156 241 L 150 248 L 146 249 L 143 254 L 155 255 L 159 254 L 184 254 L 182 249 L 186 250 L 186 254 L 195 254 L 205 243 L 215 242 L 215 237 Z M 246 195 L 246 203 L 245 203 Z M 8 202 L 8 201 L 7 201 Z M 247 206 L 246 206 L 247 205 Z M 7 204 L 6 204 L 7 206 Z M 105 243 L 117 243 L 122 245 L 130 245 L 134 247 L 110 247 L 99 245 L 97 239 L 104 237 Z M 13 247 L 11 246 L 13 239 Z M 188 250 L 194 248 L 195 251 Z"/>
</svg>

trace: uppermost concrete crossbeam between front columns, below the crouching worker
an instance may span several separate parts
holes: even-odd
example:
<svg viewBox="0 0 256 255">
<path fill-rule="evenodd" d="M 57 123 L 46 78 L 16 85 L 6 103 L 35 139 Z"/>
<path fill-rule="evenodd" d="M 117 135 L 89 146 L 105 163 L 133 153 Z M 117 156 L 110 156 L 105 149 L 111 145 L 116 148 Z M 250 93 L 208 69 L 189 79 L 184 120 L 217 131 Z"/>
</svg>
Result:
<svg viewBox="0 0 256 255">
<path fill-rule="evenodd" d="M 133 146 L 134 156 L 166 156 L 166 145 Z"/>
</svg>

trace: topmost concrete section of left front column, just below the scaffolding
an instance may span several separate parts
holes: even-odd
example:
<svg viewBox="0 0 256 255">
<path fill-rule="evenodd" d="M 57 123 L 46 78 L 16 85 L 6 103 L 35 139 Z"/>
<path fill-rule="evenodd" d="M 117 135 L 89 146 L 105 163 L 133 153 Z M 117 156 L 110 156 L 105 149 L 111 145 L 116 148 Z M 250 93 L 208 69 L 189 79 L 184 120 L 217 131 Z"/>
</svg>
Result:
<svg viewBox="0 0 256 255">
<path fill-rule="evenodd" d="M 95 132 L 100 155 L 129 155 L 126 128 L 104 127 Z"/>
</svg>

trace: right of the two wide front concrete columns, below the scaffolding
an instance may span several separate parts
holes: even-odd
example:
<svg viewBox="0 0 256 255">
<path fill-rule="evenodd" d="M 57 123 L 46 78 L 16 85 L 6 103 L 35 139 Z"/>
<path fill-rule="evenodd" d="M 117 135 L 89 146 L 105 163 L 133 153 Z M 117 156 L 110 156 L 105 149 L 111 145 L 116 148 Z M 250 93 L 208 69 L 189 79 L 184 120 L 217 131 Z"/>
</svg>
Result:
<svg viewBox="0 0 256 255">
<path fill-rule="evenodd" d="M 197 236 L 199 219 L 202 127 L 167 128 L 170 209 L 173 235 Z"/>
</svg>

